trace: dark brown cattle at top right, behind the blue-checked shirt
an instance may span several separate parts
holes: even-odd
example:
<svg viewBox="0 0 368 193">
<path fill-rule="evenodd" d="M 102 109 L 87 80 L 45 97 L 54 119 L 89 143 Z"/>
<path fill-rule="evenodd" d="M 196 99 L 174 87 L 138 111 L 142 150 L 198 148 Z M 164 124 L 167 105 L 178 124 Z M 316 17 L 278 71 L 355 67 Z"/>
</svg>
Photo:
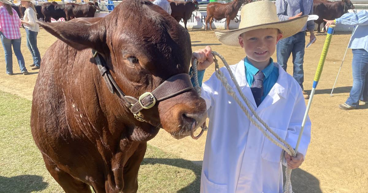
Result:
<svg viewBox="0 0 368 193">
<path fill-rule="evenodd" d="M 321 33 L 320 25 L 323 22 L 323 31 L 326 31 L 326 22 L 323 19 L 333 20 L 347 13 L 349 9 L 354 9 L 350 0 L 341 0 L 331 2 L 328 0 L 313 0 L 313 12 L 318 15 L 318 19 L 314 20 L 318 24 L 317 31 Z"/>
</svg>

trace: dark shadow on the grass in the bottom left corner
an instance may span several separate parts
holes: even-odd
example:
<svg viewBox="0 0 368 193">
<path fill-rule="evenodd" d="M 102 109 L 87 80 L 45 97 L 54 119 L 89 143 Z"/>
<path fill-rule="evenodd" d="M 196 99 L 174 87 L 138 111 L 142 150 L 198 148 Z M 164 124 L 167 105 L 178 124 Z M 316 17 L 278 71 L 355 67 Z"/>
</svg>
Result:
<svg viewBox="0 0 368 193">
<path fill-rule="evenodd" d="M 49 184 L 43 181 L 42 176 L 20 175 L 14 177 L 0 176 L 0 192 L 28 193 L 46 189 Z"/>
</svg>

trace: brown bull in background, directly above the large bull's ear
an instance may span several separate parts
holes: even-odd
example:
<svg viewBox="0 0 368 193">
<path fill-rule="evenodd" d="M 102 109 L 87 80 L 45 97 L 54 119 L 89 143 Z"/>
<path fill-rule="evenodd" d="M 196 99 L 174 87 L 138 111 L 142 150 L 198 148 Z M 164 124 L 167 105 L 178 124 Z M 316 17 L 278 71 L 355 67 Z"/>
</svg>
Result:
<svg viewBox="0 0 368 193">
<path fill-rule="evenodd" d="M 64 9 L 67 21 L 78 17 L 95 17 L 95 12 L 98 6 L 95 6 L 94 3 L 92 2 L 88 2 L 86 4 L 67 3 Z"/>
</svg>

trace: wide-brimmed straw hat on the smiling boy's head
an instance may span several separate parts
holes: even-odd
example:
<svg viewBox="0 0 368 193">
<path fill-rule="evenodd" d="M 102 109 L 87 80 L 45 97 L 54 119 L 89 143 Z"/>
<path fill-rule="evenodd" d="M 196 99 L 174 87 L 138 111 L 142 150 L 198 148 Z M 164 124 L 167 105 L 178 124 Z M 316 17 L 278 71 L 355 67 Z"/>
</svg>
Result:
<svg viewBox="0 0 368 193">
<path fill-rule="evenodd" d="M 290 37 L 307 23 L 308 15 L 280 21 L 276 14 L 276 6 L 269 0 L 255 1 L 246 4 L 240 13 L 239 29 L 224 31 L 216 30 L 217 39 L 229 46 L 240 46 L 239 35 L 254 29 L 276 28 L 283 34 L 282 38 Z"/>
</svg>

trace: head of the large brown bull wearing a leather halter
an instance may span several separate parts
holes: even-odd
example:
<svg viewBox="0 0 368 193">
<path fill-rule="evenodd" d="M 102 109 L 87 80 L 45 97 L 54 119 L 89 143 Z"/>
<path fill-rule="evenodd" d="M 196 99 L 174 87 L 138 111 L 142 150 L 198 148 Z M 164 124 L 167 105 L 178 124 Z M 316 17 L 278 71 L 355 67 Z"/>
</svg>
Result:
<svg viewBox="0 0 368 193">
<path fill-rule="evenodd" d="M 167 12 L 148 0 L 123 0 L 102 19 L 73 20 L 39 24 L 74 49 L 97 50 L 117 85 L 128 96 L 138 99 L 171 76 L 188 73 L 192 53 L 189 33 Z M 92 53 L 86 57 L 92 58 Z M 117 97 L 109 92 L 104 94 Z M 124 106 L 111 108 L 126 113 L 131 123 L 145 124 L 145 127 L 153 129 L 162 127 L 177 139 L 190 135 L 193 123 L 197 128 L 206 118 L 205 101 L 194 89 L 142 110 L 148 123 L 137 121 Z"/>
</svg>

